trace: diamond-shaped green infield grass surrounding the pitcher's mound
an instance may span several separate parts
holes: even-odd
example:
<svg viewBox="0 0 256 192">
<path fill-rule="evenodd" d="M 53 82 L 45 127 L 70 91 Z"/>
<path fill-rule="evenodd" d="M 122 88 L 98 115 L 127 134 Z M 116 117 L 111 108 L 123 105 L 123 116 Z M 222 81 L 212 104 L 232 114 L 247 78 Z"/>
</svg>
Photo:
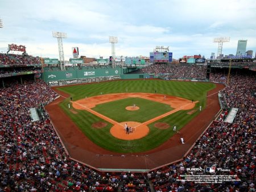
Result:
<svg viewBox="0 0 256 192">
<path fill-rule="evenodd" d="M 128 111 L 127 106 L 137 105 L 139 110 Z M 172 108 L 159 102 L 150 101 L 142 98 L 126 98 L 119 99 L 104 104 L 97 105 L 92 110 L 99 112 L 102 115 L 108 116 L 117 122 L 146 122 L 156 116 L 162 115 Z"/>
</svg>

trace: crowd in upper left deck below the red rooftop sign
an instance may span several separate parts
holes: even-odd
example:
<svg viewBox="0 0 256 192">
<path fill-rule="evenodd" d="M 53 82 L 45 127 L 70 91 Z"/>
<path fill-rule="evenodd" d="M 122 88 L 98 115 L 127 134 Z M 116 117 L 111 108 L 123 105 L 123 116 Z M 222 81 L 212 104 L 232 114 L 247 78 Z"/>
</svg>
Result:
<svg viewBox="0 0 256 192">
<path fill-rule="evenodd" d="M 41 64 L 39 57 L 0 53 L 0 65 L 35 65 Z"/>
</svg>

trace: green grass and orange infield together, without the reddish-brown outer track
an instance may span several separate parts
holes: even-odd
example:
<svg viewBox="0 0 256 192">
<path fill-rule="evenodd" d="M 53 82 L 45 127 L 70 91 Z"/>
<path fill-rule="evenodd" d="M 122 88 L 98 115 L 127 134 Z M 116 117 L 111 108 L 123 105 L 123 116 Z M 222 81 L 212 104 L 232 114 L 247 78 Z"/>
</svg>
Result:
<svg viewBox="0 0 256 192">
<path fill-rule="evenodd" d="M 114 153 L 141 153 L 179 134 L 204 111 L 207 92 L 215 87 L 203 82 L 130 80 L 56 89 L 66 93 L 58 105 L 94 144 Z M 129 134 L 125 123 L 131 127 Z"/>
</svg>

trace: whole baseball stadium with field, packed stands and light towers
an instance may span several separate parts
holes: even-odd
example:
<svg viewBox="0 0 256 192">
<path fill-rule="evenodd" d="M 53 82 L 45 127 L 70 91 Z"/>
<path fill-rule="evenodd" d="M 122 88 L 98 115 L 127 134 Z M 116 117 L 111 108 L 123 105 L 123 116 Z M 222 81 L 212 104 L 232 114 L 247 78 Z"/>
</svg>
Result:
<svg viewBox="0 0 256 192">
<path fill-rule="evenodd" d="M 254 191 L 253 56 L 67 61 L 52 35 L 57 59 L 0 53 L 0 191 Z"/>
</svg>

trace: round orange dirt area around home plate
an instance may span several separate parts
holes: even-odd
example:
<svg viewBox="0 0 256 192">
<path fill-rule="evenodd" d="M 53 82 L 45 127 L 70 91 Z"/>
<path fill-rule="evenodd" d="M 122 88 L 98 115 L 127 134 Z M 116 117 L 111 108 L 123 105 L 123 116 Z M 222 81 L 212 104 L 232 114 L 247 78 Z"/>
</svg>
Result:
<svg viewBox="0 0 256 192">
<path fill-rule="evenodd" d="M 126 133 L 125 124 L 127 123 L 128 127 L 131 127 L 132 131 Z M 146 136 L 149 133 L 149 128 L 144 124 L 138 122 L 122 122 L 119 124 L 115 124 L 111 129 L 110 133 L 117 137 L 118 139 L 123 140 L 134 140 L 134 139 L 141 139 L 142 137 Z"/>
</svg>

